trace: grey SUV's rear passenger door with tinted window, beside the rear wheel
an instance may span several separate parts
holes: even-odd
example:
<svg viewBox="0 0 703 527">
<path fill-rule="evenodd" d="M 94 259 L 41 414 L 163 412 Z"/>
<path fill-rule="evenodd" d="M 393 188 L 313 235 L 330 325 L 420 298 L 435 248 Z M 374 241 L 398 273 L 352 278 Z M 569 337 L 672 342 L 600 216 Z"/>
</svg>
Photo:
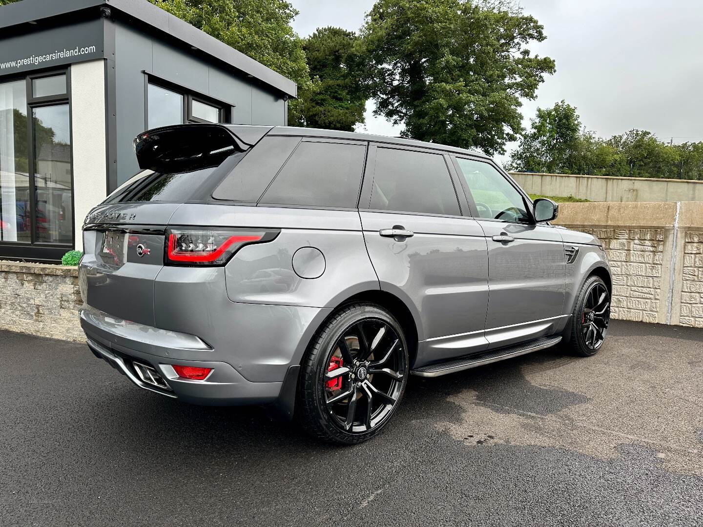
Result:
<svg viewBox="0 0 703 527">
<path fill-rule="evenodd" d="M 372 145 L 359 204 L 381 289 L 421 321 L 415 367 L 486 348 L 486 240 L 462 214 L 449 162 L 432 150 Z"/>
</svg>

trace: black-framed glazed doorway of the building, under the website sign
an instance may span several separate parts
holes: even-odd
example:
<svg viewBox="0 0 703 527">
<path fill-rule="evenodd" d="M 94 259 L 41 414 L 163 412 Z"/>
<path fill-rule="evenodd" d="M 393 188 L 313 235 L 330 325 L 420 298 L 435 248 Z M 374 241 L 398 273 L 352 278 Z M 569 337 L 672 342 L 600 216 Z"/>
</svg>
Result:
<svg viewBox="0 0 703 527">
<path fill-rule="evenodd" d="M 0 258 L 73 248 L 68 91 L 65 71 L 0 82 Z"/>
</svg>

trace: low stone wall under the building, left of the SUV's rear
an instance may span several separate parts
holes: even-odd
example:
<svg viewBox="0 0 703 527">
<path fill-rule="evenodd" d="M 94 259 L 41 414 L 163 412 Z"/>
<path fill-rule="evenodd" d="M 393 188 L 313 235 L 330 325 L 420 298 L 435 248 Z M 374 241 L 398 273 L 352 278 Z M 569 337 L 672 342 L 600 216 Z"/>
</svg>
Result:
<svg viewBox="0 0 703 527">
<path fill-rule="evenodd" d="M 0 261 L 0 330 L 84 341 L 75 267 Z"/>
</svg>

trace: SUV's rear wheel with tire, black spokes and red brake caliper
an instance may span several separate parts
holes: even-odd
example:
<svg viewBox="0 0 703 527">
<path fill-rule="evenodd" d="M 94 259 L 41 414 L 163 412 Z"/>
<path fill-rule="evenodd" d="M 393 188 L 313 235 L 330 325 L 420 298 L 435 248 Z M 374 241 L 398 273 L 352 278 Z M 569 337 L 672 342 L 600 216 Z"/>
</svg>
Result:
<svg viewBox="0 0 703 527">
<path fill-rule="evenodd" d="M 367 441 L 394 415 L 408 370 L 408 346 L 393 315 L 366 302 L 343 306 L 318 330 L 302 360 L 297 419 L 323 441 Z"/>
</svg>

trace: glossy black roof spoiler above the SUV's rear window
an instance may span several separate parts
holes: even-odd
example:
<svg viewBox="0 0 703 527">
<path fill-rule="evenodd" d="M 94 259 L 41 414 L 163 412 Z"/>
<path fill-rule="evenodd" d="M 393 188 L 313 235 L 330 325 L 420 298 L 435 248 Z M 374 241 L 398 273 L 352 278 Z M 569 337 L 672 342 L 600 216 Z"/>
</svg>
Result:
<svg viewBox="0 0 703 527">
<path fill-rule="evenodd" d="M 217 167 L 236 152 L 245 152 L 273 126 L 175 124 L 147 130 L 134 138 L 142 170 L 185 172 Z"/>
</svg>

